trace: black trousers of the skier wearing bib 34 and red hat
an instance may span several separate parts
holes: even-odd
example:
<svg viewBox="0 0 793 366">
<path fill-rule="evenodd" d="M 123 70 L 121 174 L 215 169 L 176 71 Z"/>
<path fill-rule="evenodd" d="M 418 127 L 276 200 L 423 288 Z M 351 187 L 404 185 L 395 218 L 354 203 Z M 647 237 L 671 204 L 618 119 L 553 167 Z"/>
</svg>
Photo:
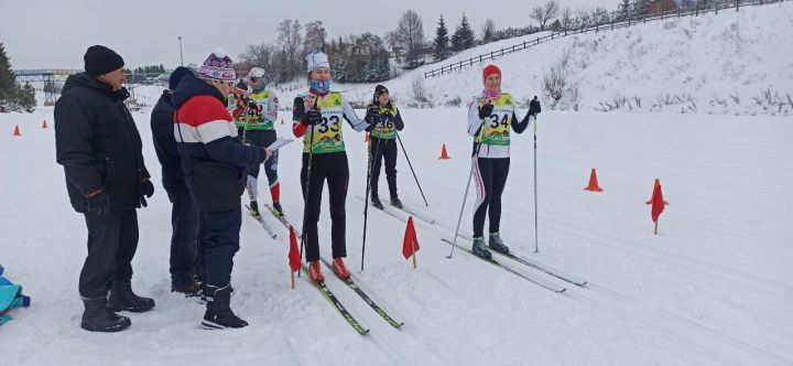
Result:
<svg viewBox="0 0 793 366">
<path fill-rule="evenodd" d="M 476 158 L 474 179 L 477 186 L 474 236 L 482 236 L 485 214 L 490 217 L 490 233 L 498 233 L 501 224 L 501 193 L 509 174 L 509 158 Z"/>
</svg>

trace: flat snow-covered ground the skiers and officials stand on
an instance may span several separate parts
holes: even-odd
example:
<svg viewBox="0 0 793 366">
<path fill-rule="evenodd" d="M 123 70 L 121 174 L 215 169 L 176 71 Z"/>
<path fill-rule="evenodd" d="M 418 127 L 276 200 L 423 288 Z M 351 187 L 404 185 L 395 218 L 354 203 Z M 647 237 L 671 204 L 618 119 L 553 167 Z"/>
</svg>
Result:
<svg viewBox="0 0 793 366">
<path fill-rule="evenodd" d="M 472 72 L 471 72 L 472 73 Z M 156 96 L 153 88 L 139 98 Z M 558 294 L 456 251 L 453 235 L 470 139 L 461 108 L 403 109 L 402 134 L 430 207 L 402 155 L 399 186 L 416 222 L 419 269 L 401 257 L 404 224 L 370 209 L 366 270 L 359 271 L 366 184 L 363 136 L 345 129 L 350 160 L 348 263 L 354 278 L 394 317 L 387 325 L 335 278 L 328 284 L 360 322 L 360 336 L 305 280 L 289 288 L 286 230 L 268 238 L 243 218 L 232 308 L 250 326 L 198 329 L 204 306 L 170 292 L 170 204 L 160 186 L 146 108 L 134 114 L 157 191 L 139 211 L 134 289 L 154 311 L 129 314 L 118 334 L 79 329 L 77 279 L 85 223 L 68 204 L 55 163 L 52 108 L 0 115 L 0 263 L 33 298 L 0 327 L 3 365 L 156 364 L 539 364 L 790 365 L 793 363 L 793 123 L 789 117 L 675 112 L 540 115 L 540 254 L 532 254 L 531 132 L 517 136 L 504 192 L 502 236 L 514 254 L 589 281 L 578 288 L 521 265 L 514 269 L 567 287 Z M 519 111 L 523 115 L 524 110 Z M 359 111 L 359 115 L 362 115 Z M 289 136 L 287 123 L 278 125 Z M 22 137 L 11 137 L 19 125 Z M 438 160 L 446 143 L 452 160 Z M 284 148 L 283 204 L 301 222 L 300 147 Z M 601 193 L 582 190 L 597 168 Z M 650 198 L 661 179 L 670 202 L 652 235 Z M 382 190 L 385 192 L 384 179 Z M 326 191 L 327 192 L 327 191 Z M 471 192 L 472 193 L 472 192 Z M 265 198 L 267 198 L 267 193 Z M 472 200 L 472 196 L 470 197 Z M 463 229 L 470 232 L 470 200 Z M 327 198 L 324 200 L 327 205 Z M 329 217 L 321 249 L 329 256 Z M 297 224 L 298 225 L 298 224 Z M 460 241 L 465 244 L 465 241 Z M 502 260 L 502 261 L 506 261 Z"/>
</svg>

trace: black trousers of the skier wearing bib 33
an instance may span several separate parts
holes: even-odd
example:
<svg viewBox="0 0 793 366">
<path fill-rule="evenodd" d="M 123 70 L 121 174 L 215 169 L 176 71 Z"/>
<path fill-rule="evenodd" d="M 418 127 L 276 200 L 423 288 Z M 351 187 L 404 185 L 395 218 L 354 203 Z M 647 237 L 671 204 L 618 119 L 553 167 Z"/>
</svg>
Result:
<svg viewBox="0 0 793 366">
<path fill-rule="evenodd" d="M 308 186 L 306 186 L 306 181 L 308 181 Z M 330 197 L 330 243 L 333 257 L 347 257 L 347 215 L 345 211 L 347 184 L 349 182 L 347 153 L 343 151 L 313 154 L 311 172 L 308 172 L 308 153 L 304 153 L 303 168 L 301 169 L 301 185 L 303 187 L 303 201 L 305 202 L 306 215 L 303 234 L 306 239 L 306 261 L 319 260 L 317 223 L 319 222 L 319 207 L 322 205 L 322 193 L 325 181 L 327 181 L 328 196 Z"/>
</svg>

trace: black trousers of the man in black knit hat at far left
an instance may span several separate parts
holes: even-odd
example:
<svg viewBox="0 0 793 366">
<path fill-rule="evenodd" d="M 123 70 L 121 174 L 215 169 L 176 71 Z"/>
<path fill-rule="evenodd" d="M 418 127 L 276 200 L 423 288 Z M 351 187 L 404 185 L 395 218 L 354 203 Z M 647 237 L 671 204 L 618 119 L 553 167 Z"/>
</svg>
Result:
<svg viewBox="0 0 793 366">
<path fill-rule="evenodd" d="M 85 214 L 88 256 L 79 278 L 83 298 L 107 295 L 111 281 L 132 279 L 132 257 L 138 249 L 138 213 L 134 208 L 105 216 Z"/>
</svg>

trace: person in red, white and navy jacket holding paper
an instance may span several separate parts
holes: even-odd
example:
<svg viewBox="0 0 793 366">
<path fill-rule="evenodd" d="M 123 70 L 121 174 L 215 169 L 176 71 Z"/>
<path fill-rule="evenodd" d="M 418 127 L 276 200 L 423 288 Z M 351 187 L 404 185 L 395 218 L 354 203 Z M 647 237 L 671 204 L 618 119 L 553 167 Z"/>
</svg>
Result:
<svg viewBox="0 0 793 366">
<path fill-rule="evenodd" d="M 231 58 L 217 50 L 204 62 L 198 77 L 186 75 L 173 94 L 176 149 L 199 209 L 198 267 L 207 300 L 202 325 L 209 329 L 248 325 L 229 306 L 231 268 L 242 224 L 240 195 L 246 168 L 272 154 L 237 139 L 237 128 L 226 109 L 235 76 Z"/>
</svg>

